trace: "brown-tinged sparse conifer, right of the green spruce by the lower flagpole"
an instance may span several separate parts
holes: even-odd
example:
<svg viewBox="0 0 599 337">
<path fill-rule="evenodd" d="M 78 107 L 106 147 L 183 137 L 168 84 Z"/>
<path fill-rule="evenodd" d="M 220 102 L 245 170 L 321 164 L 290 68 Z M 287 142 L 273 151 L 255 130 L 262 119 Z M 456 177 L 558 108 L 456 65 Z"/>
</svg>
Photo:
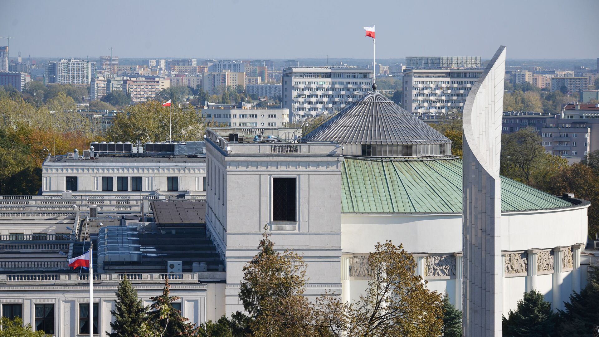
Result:
<svg viewBox="0 0 599 337">
<path fill-rule="evenodd" d="M 181 311 L 173 308 L 173 302 L 180 297 L 170 296 L 171 285 L 168 278 L 164 279 L 164 290 L 160 296 L 152 297 L 150 305 L 149 322 L 154 329 L 161 333 L 162 337 L 187 337 L 193 336 L 197 328 L 193 323 L 186 323 L 187 318 L 181 317 Z"/>
</svg>

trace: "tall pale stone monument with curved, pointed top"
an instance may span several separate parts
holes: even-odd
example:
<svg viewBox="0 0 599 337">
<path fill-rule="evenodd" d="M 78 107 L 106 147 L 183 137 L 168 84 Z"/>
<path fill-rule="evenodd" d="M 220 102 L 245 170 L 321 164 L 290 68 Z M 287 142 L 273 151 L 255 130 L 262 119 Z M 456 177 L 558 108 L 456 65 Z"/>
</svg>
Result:
<svg viewBox="0 0 599 337">
<path fill-rule="evenodd" d="M 464 337 L 501 337 L 501 118 L 506 47 L 472 85 L 462 121 L 462 252 Z"/>
</svg>

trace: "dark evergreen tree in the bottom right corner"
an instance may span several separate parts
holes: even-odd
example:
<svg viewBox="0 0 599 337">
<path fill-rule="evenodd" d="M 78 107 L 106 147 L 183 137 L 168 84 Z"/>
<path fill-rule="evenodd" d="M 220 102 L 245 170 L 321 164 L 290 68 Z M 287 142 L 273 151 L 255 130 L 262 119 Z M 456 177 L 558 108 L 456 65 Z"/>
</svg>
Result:
<svg viewBox="0 0 599 337">
<path fill-rule="evenodd" d="M 591 336 L 599 324 L 599 267 L 589 267 L 589 281 L 580 293 L 570 295 L 565 311 L 558 311 L 558 330 L 562 336 Z"/>
</svg>

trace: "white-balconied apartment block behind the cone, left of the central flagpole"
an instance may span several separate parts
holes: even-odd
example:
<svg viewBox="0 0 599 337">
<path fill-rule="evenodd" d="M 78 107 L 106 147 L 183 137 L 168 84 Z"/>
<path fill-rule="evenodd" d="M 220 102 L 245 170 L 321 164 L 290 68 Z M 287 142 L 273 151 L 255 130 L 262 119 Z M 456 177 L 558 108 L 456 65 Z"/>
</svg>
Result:
<svg viewBox="0 0 599 337">
<path fill-rule="evenodd" d="M 343 109 L 370 89 L 372 74 L 364 68 L 285 68 L 283 108 L 289 109 L 289 122 Z"/>
</svg>

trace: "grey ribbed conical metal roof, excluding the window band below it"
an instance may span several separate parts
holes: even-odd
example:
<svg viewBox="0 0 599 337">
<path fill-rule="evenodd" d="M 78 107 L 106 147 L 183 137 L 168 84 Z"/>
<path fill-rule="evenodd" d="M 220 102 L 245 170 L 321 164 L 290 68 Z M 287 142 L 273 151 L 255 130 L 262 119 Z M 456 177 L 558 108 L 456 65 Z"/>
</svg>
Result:
<svg viewBox="0 0 599 337">
<path fill-rule="evenodd" d="M 301 142 L 416 145 L 450 140 L 373 90 L 305 134 Z"/>
</svg>

